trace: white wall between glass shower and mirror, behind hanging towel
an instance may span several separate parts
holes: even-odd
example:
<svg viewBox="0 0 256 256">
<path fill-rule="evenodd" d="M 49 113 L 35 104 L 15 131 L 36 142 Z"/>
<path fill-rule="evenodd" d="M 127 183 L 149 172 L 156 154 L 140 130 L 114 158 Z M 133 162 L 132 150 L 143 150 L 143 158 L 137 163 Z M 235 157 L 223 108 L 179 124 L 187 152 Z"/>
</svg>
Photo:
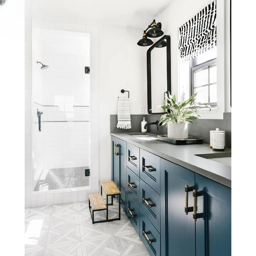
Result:
<svg viewBox="0 0 256 256">
<path fill-rule="evenodd" d="M 121 89 L 130 91 L 131 114 L 139 114 L 140 105 L 147 114 L 148 47 L 137 45 L 141 32 L 138 28 L 99 27 L 100 181 L 111 178 L 109 115 L 117 114 L 118 96 L 127 97 Z"/>
</svg>

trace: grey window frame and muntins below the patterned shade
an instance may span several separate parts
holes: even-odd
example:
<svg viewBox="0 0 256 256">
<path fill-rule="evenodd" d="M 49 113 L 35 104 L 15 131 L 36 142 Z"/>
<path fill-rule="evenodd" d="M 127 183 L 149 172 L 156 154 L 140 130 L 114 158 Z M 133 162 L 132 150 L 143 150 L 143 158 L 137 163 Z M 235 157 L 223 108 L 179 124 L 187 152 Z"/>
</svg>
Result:
<svg viewBox="0 0 256 256">
<path fill-rule="evenodd" d="M 195 93 L 194 91 L 194 84 L 195 84 L 195 76 L 194 76 L 194 72 L 196 70 L 199 70 L 199 69 L 202 69 L 202 68 L 208 68 L 208 72 L 209 72 L 209 67 L 210 66 L 217 66 L 217 58 L 214 58 L 214 59 L 211 59 L 211 60 L 207 60 L 203 63 L 200 63 L 200 64 L 197 64 L 197 57 L 190 60 L 189 62 L 189 69 L 190 69 L 190 72 L 189 72 L 189 82 L 190 82 L 190 96 L 193 95 Z M 208 73 L 208 81 L 209 81 L 209 73 Z M 217 80 L 216 80 L 216 83 L 212 83 L 212 84 L 217 84 Z M 210 83 L 208 84 L 205 84 L 205 86 L 208 85 L 208 88 L 209 88 L 209 85 L 211 85 Z M 204 85 L 202 85 L 203 87 Z M 208 92 L 208 97 L 210 97 L 210 94 Z M 211 107 L 217 107 L 217 102 L 202 102 L 202 103 L 205 103 L 207 105 L 210 105 Z M 202 107 L 197 107 L 197 108 L 202 108 Z"/>
</svg>

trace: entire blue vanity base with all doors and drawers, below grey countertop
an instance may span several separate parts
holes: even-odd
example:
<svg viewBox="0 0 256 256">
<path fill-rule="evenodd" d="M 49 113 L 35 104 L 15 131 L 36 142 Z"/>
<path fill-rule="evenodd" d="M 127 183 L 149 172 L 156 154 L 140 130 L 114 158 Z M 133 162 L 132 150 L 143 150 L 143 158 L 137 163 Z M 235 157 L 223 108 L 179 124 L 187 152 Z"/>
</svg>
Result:
<svg viewBox="0 0 256 256">
<path fill-rule="evenodd" d="M 121 205 L 150 255 L 231 256 L 231 188 L 113 136 L 111 150 Z"/>
</svg>

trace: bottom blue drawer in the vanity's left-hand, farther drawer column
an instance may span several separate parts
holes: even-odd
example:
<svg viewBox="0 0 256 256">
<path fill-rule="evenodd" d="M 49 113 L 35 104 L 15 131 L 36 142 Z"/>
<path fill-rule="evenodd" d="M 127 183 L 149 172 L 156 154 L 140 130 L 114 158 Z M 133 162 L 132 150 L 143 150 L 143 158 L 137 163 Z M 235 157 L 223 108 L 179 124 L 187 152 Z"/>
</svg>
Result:
<svg viewBox="0 0 256 256">
<path fill-rule="evenodd" d="M 126 214 L 132 226 L 140 235 L 140 208 L 128 193 L 126 194 Z"/>
</svg>

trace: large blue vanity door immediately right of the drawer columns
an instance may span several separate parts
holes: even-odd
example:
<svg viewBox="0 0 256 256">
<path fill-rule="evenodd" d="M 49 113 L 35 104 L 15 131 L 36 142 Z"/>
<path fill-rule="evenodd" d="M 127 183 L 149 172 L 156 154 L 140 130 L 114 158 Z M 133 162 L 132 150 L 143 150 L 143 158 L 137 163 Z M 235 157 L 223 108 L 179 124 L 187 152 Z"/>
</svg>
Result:
<svg viewBox="0 0 256 256">
<path fill-rule="evenodd" d="M 161 256 L 195 256 L 193 192 L 195 173 L 161 158 Z M 188 213 L 185 214 L 185 186 Z M 196 255 L 198 256 L 198 255 Z"/>
</svg>

